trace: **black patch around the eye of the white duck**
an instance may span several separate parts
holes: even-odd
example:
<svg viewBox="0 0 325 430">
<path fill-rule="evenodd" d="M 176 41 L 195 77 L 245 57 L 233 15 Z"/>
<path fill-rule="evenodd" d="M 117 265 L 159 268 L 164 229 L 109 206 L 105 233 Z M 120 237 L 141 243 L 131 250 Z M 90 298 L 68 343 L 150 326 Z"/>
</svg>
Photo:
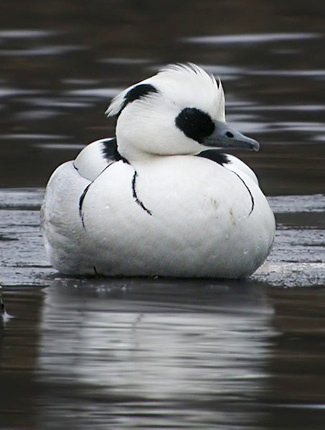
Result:
<svg viewBox="0 0 325 430">
<path fill-rule="evenodd" d="M 210 136 L 215 125 L 207 113 L 196 108 L 183 109 L 175 119 L 176 126 L 185 136 L 202 143 L 204 138 Z"/>
</svg>

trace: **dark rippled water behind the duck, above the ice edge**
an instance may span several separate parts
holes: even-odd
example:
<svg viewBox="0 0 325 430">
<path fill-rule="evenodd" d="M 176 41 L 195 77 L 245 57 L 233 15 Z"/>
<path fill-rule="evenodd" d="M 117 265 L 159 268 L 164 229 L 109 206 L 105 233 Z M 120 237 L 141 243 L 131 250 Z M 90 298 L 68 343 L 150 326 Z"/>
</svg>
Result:
<svg viewBox="0 0 325 430">
<path fill-rule="evenodd" d="M 168 64 L 218 74 L 227 120 L 261 142 L 242 158 L 267 194 L 324 186 L 320 0 L 19 0 L 1 3 L 0 185 L 44 187 L 114 134 L 111 98 Z"/>
</svg>

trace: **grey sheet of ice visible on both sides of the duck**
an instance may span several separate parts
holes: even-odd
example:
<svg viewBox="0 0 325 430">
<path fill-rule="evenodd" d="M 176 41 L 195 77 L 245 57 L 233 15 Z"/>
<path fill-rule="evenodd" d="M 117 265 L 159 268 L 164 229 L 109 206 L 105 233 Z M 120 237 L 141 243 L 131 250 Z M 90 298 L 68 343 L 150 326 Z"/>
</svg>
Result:
<svg viewBox="0 0 325 430">
<path fill-rule="evenodd" d="M 0 282 L 49 285 L 57 272 L 42 243 L 39 209 L 44 190 L 0 191 Z M 269 198 L 277 234 L 266 263 L 251 280 L 271 286 L 321 286 L 325 280 L 325 198 L 323 195 Z"/>
</svg>

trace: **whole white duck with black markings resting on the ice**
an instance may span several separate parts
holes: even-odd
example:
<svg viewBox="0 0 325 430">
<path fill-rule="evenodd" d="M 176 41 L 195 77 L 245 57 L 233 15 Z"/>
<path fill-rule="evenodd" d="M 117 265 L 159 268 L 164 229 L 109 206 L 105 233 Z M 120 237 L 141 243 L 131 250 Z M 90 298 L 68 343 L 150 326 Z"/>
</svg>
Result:
<svg viewBox="0 0 325 430">
<path fill-rule="evenodd" d="M 66 274 L 238 278 L 267 257 L 274 217 L 227 148 L 258 143 L 225 122 L 220 81 L 170 66 L 111 103 L 116 137 L 52 175 L 43 204 L 51 263 Z M 214 149 L 212 151 L 212 149 Z"/>
</svg>

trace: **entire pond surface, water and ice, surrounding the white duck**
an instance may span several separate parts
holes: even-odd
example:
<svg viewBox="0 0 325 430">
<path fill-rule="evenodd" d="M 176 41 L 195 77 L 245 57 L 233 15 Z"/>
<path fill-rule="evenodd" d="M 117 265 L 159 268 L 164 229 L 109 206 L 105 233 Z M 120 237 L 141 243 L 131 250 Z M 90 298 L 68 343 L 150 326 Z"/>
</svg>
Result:
<svg viewBox="0 0 325 430">
<path fill-rule="evenodd" d="M 325 428 L 325 6 L 30 0 L 0 6 L 0 429 Z M 120 89 L 170 62 L 219 74 L 258 139 L 278 231 L 242 282 L 67 279 L 39 206 L 113 134 Z"/>
</svg>

